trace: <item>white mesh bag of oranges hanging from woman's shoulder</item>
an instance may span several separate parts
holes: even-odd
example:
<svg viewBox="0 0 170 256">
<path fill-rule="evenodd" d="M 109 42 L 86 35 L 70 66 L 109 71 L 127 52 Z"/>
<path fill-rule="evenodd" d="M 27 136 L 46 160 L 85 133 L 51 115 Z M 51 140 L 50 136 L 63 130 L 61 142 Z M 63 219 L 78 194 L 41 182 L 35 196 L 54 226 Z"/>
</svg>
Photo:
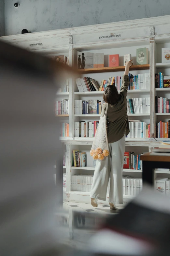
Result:
<svg viewBox="0 0 170 256">
<path fill-rule="evenodd" d="M 106 114 L 107 114 L 108 104 L 106 103 L 106 111 L 104 116 L 100 116 L 99 124 L 94 137 L 92 149 L 90 155 L 93 159 L 103 160 L 109 155 L 108 141 L 107 141 L 107 126 L 106 126 Z"/>
</svg>

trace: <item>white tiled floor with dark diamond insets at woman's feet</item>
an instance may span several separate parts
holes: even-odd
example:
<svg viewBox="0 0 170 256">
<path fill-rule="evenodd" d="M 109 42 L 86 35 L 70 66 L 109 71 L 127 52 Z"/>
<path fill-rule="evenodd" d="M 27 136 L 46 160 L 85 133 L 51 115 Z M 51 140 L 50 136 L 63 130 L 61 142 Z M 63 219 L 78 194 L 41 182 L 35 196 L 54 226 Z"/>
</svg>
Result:
<svg viewBox="0 0 170 256">
<path fill-rule="evenodd" d="M 63 202 L 63 209 L 72 208 L 74 211 L 78 212 L 90 212 L 90 213 L 102 213 L 102 214 L 111 214 L 119 213 L 119 210 L 123 209 L 118 207 L 118 210 L 110 210 L 109 205 L 98 205 L 97 208 L 93 207 L 91 204 L 83 203 L 73 203 L 73 202 Z"/>
</svg>

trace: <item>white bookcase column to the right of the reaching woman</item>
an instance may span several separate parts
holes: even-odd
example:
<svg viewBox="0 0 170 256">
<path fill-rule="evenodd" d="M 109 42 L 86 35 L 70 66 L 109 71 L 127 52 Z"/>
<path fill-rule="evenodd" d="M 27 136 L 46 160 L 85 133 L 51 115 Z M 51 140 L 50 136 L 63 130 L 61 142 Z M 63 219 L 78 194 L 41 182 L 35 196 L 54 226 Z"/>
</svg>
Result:
<svg viewBox="0 0 170 256">
<path fill-rule="evenodd" d="M 155 140 L 155 40 L 154 27 L 149 27 L 150 60 L 150 140 Z"/>
</svg>

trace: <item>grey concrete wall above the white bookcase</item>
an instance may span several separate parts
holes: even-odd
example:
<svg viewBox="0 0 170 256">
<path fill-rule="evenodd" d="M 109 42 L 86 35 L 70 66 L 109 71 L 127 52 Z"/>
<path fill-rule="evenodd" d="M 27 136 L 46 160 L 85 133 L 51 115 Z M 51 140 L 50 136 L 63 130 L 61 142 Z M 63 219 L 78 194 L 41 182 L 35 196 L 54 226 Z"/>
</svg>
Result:
<svg viewBox="0 0 170 256">
<path fill-rule="evenodd" d="M 5 35 L 169 15 L 169 0 L 5 0 Z"/>
</svg>

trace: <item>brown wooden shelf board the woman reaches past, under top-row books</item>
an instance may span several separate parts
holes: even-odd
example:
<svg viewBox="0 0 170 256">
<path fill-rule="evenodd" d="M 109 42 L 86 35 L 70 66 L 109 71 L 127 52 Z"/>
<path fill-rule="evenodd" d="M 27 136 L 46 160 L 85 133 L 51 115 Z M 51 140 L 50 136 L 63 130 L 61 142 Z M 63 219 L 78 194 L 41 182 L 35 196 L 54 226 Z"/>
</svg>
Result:
<svg viewBox="0 0 170 256">
<path fill-rule="evenodd" d="M 124 71 L 125 66 L 118 67 L 104 67 L 104 68 L 86 68 L 78 69 L 79 74 L 90 74 L 90 73 L 104 73 L 104 72 L 117 72 Z M 149 69 L 149 64 L 143 65 L 133 65 L 130 67 L 130 70 L 146 70 Z"/>
</svg>

